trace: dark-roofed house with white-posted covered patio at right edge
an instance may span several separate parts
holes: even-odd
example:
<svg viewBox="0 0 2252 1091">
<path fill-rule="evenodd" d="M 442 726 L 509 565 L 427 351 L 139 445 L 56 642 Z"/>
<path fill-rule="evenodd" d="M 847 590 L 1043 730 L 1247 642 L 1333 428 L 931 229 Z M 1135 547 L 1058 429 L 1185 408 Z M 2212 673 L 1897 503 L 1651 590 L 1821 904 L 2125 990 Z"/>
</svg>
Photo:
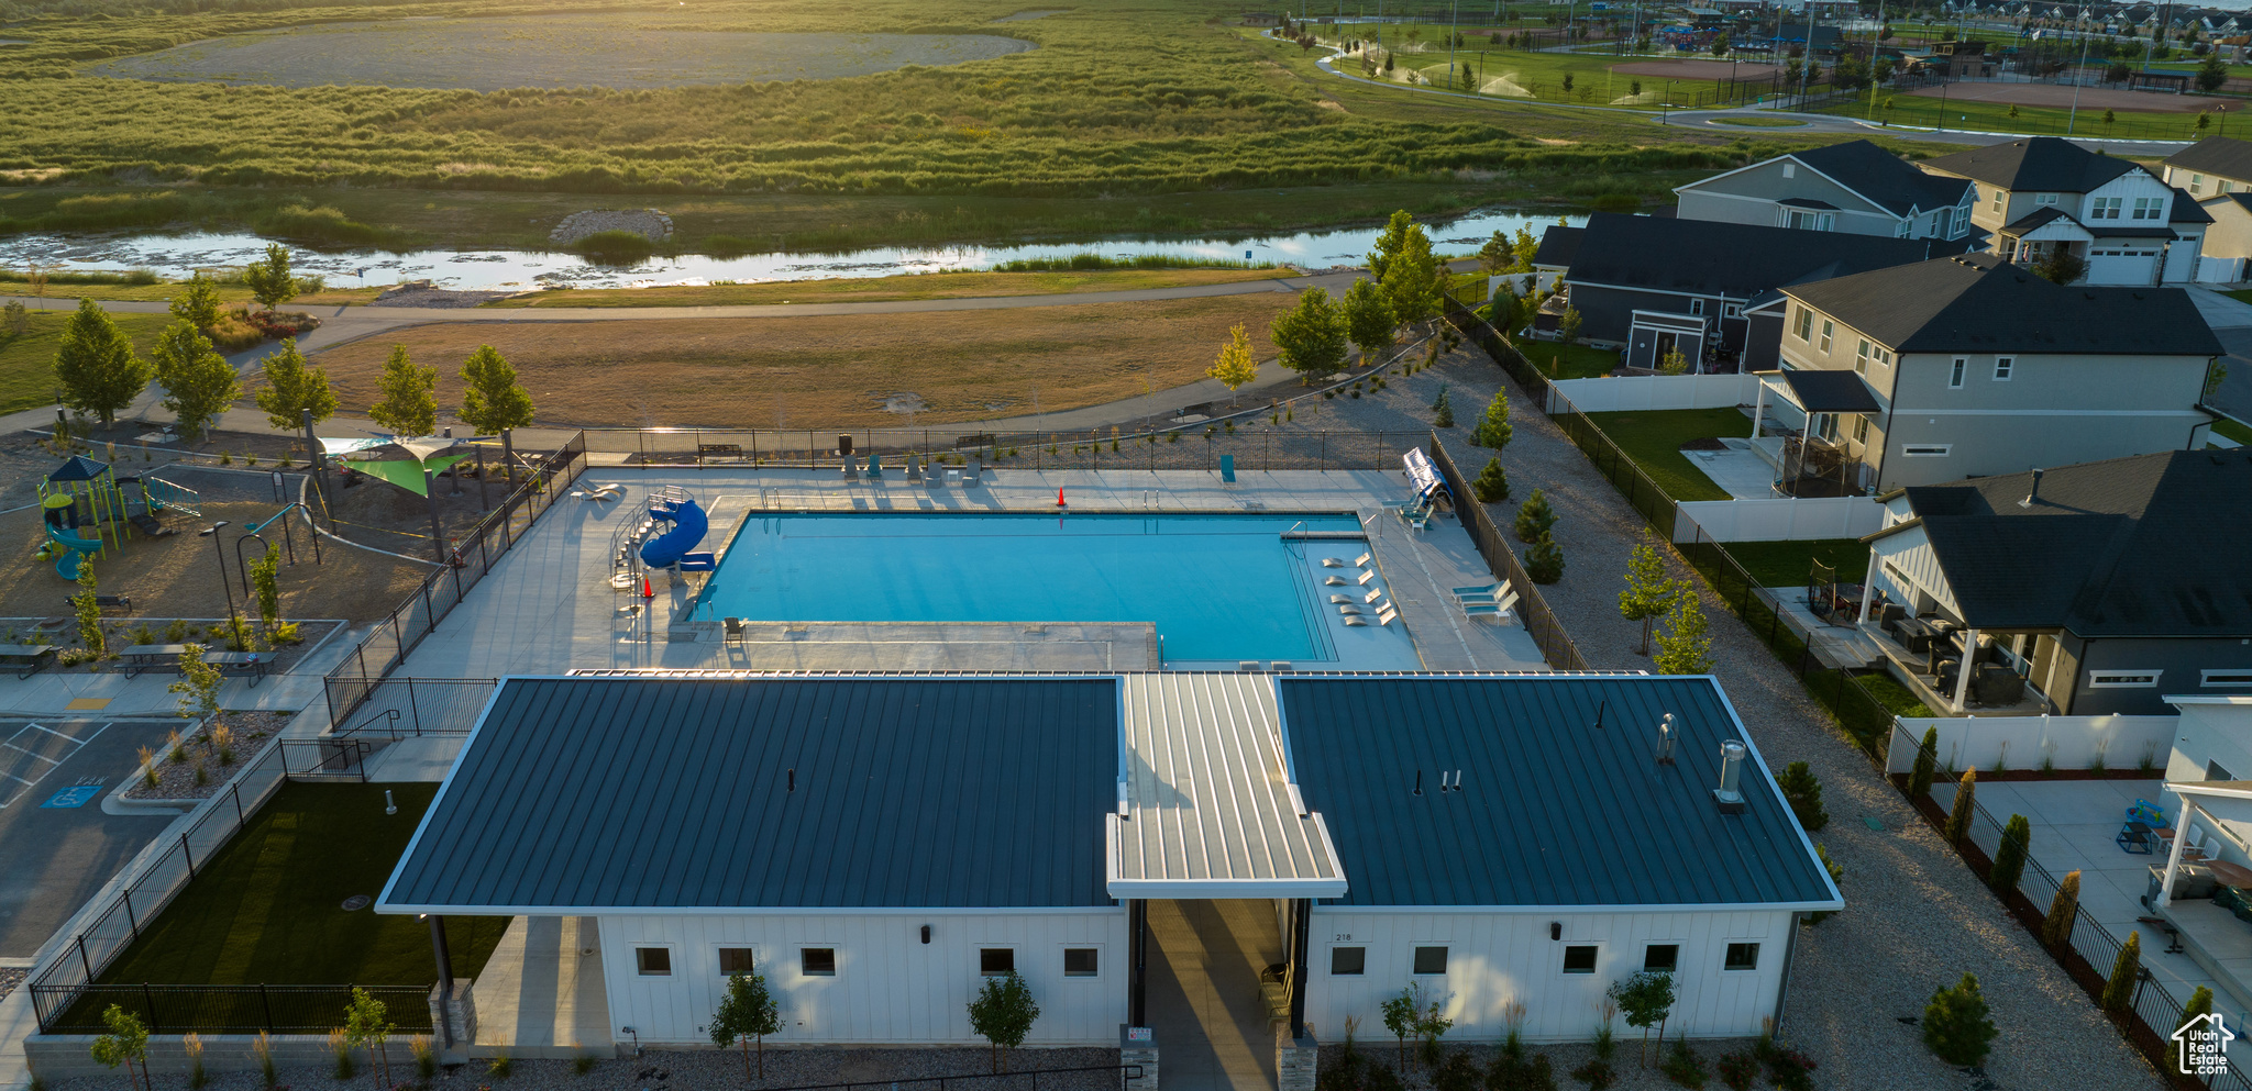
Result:
<svg viewBox="0 0 2252 1091">
<path fill-rule="evenodd" d="M 1883 596 L 1939 621 L 1957 657 L 1970 648 L 1973 670 L 1943 691 L 1955 711 L 1973 686 L 2018 688 L 2000 670 L 2061 715 L 2252 693 L 2252 454 L 2173 450 L 1883 499 L 1862 619 Z"/>
</svg>

